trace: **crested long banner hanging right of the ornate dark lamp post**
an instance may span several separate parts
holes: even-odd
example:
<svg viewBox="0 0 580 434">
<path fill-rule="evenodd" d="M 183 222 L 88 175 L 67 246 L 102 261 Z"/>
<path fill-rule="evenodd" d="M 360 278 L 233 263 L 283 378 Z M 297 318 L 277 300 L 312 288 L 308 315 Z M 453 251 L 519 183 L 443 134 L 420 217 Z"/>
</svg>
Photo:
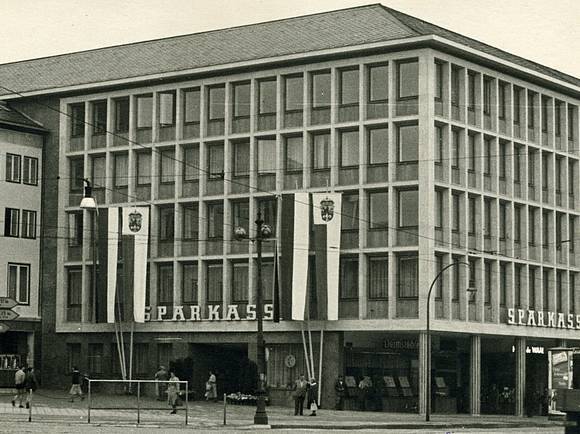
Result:
<svg viewBox="0 0 580 434">
<path fill-rule="evenodd" d="M 341 193 L 313 193 L 318 319 L 338 319 Z"/>
</svg>

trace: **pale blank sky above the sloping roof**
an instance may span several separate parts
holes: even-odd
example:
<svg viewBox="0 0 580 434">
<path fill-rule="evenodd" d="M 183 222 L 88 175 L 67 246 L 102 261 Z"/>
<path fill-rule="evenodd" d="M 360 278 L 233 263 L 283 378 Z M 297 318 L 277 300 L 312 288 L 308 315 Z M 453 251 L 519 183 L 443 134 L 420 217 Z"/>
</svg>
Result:
<svg viewBox="0 0 580 434">
<path fill-rule="evenodd" d="M 358 0 L 0 0 L 0 63 L 370 4 Z M 580 0 L 383 0 L 580 77 Z"/>
</svg>

